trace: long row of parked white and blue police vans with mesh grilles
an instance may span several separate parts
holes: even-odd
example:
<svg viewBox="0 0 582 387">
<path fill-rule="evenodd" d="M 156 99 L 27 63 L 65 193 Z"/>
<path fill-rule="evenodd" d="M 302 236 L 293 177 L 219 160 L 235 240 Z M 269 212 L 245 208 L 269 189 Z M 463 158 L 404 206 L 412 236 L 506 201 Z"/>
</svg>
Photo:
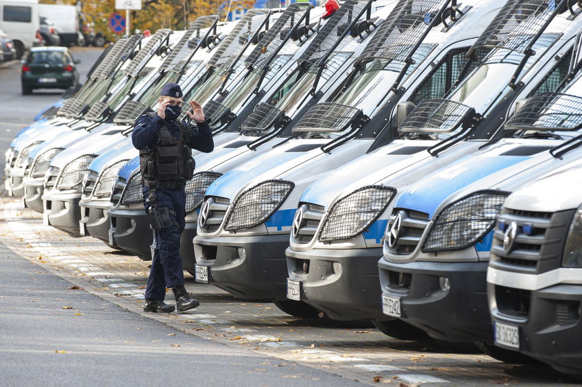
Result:
<svg viewBox="0 0 582 387">
<path fill-rule="evenodd" d="M 197 282 L 580 375 L 581 10 L 294 3 L 124 37 L 12 141 L 6 186 L 45 224 L 150 260 L 131 132 L 177 82 L 215 143 L 186 183 Z"/>
</svg>

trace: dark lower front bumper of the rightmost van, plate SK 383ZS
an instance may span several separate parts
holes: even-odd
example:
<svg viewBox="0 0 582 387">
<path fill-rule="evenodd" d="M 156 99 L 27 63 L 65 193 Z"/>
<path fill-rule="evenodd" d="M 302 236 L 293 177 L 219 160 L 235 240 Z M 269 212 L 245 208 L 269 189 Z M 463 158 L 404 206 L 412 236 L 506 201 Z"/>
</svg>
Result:
<svg viewBox="0 0 582 387">
<path fill-rule="evenodd" d="M 520 294 L 529 300 L 527 314 L 511 307 L 515 305 L 515 298 L 509 298 L 511 289 L 488 284 L 494 324 L 515 326 L 519 332 L 519 349 L 500 346 L 519 350 L 560 372 L 582 376 L 582 286 L 554 285 Z"/>
</svg>

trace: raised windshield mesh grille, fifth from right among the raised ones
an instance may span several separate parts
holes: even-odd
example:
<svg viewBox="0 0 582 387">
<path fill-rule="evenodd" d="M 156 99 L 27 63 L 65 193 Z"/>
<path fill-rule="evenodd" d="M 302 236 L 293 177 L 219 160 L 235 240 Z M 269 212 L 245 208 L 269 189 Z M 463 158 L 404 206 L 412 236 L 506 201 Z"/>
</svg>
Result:
<svg viewBox="0 0 582 387">
<path fill-rule="evenodd" d="M 230 67 L 238 57 L 243 53 L 245 47 L 250 42 L 254 33 L 265 24 L 270 10 L 249 10 L 242 19 L 238 21 L 231 33 L 220 43 L 216 53 L 212 55 L 208 64 L 209 66 L 220 67 L 223 64 Z"/>
</svg>

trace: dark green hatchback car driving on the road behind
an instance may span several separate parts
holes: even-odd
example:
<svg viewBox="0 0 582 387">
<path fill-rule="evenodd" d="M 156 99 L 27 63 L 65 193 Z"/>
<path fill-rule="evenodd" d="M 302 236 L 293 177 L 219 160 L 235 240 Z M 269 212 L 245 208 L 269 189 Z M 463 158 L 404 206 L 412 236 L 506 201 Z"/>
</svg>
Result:
<svg viewBox="0 0 582 387">
<path fill-rule="evenodd" d="M 33 89 L 67 89 L 79 82 L 76 64 L 67 47 L 33 47 L 22 61 L 22 93 Z"/>
</svg>

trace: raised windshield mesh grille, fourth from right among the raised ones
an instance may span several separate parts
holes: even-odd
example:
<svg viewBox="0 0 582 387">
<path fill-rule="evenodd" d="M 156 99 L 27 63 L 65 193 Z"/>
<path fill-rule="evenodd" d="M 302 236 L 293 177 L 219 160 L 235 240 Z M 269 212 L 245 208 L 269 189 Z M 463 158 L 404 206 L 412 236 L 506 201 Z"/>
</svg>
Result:
<svg viewBox="0 0 582 387">
<path fill-rule="evenodd" d="M 268 64 L 274 55 L 279 52 L 283 44 L 287 42 L 290 31 L 294 26 L 303 21 L 308 10 L 311 8 L 311 3 L 291 4 L 285 12 L 283 12 L 283 15 L 277 19 L 275 24 L 269 28 L 247 60 L 245 60 L 247 67 L 262 69 L 265 64 Z"/>
</svg>

